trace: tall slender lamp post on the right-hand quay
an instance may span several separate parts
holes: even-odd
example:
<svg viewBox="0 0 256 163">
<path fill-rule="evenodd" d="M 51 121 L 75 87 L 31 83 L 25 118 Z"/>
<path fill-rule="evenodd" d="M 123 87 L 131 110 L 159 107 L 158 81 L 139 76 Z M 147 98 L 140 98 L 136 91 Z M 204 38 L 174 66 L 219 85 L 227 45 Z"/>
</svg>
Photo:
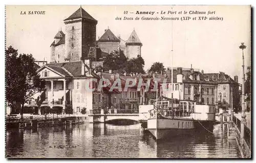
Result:
<svg viewBox="0 0 256 163">
<path fill-rule="evenodd" d="M 244 42 L 241 43 L 239 46 L 240 49 L 242 49 L 242 60 L 243 60 L 243 78 L 242 78 L 242 121 L 246 121 L 246 114 L 245 114 L 245 103 L 244 103 L 244 81 L 245 81 L 245 75 L 244 75 L 244 49 L 246 49 L 246 46 L 244 45 Z"/>
</svg>

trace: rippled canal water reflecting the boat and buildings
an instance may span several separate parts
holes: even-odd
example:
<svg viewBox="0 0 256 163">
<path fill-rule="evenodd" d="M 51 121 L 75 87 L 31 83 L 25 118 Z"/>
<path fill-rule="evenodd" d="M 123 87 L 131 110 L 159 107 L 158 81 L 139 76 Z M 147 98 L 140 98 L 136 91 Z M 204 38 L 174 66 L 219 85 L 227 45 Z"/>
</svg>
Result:
<svg viewBox="0 0 256 163">
<path fill-rule="evenodd" d="M 115 126 L 79 124 L 39 129 L 7 129 L 8 157 L 169 157 L 240 158 L 235 139 L 226 127 L 215 125 L 214 134 L 194 133 L 156 142 L 140 124 Z"/>
</svg>

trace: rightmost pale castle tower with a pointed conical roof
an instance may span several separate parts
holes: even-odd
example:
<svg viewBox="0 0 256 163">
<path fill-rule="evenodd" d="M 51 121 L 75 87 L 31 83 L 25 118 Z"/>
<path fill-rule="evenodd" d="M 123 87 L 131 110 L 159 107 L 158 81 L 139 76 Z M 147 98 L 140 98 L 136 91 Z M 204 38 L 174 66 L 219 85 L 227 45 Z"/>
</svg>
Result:
<svg viewBox="0 0 256 163">
<path fill-rule="evenodd" d="M 135 30 L 133 30 L 131 36 L 125 43 L 125 55 L 131 59 L 133 57 L 141 56 L 141 46 L 142 43 Z"/>
</svg>

